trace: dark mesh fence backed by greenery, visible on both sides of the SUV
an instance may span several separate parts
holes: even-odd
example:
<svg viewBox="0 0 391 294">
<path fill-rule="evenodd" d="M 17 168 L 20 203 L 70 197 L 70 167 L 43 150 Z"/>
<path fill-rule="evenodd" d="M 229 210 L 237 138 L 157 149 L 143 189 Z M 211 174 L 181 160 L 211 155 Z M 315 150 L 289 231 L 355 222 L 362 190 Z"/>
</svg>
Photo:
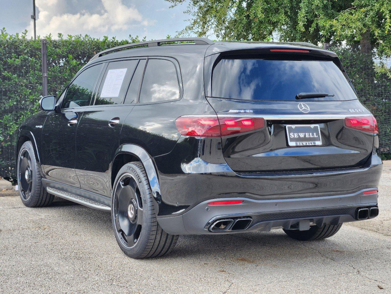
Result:
<svg viewBox="0 0 391 294">
<path fill-rule="evenodd" d="M 48 40 L 48 94 L 59 94 L 99 51 L 123 45 L 117 40 Z M 350 76 L 361 102 L 375 115 L 380 152 L 391 156 L 391 60 L 374 59 L 359 47 L 330 45 Z M 18 127 L 38 111 L 44 93 L 40 40 L 0 40 L 0 176 L 15 176 Z"/>
</svg>

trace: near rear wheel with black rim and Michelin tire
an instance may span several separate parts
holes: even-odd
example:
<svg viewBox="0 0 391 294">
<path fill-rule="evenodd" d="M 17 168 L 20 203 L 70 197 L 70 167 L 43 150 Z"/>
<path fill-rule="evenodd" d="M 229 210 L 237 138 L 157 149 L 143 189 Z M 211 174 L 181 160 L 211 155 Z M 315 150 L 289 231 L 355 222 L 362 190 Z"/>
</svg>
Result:
<svg viewBox="0 0 391 294">
<path fill-rule="evenodd" d="M 111 220 L 119 247 L 131 258 L 163 256 L 178 240 L 178 235 L 167 234 L 156 220 L 151 187 L 141 162 L 127 163 L 118 171 Z"/>
</svg>

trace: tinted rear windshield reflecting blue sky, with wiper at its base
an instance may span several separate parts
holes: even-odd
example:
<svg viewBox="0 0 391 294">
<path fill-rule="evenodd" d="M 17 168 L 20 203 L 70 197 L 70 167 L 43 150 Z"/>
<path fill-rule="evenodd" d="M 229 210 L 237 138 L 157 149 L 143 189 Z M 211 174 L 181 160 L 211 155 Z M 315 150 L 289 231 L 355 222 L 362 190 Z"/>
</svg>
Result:
<svg viewBox="0 0 391 294">
<path fill-rule="evenodd" d="M 334 94 L 305 99 L 314 101 L 357 99 L 342 71 L 328 60 L 221 59 L 213 69 L 213 97 L 296 100 L 298 93 Z"/>
</svg>

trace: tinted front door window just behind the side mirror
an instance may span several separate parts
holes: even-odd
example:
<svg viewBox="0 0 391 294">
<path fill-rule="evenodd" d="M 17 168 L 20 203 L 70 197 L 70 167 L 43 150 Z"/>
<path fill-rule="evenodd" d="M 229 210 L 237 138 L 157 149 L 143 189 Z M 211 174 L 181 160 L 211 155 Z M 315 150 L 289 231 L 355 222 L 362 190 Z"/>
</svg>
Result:
<svg viewBox="0 0 391 294">
<path fill-rule="evenodd" d="M 74 108 L 90 105 L 95 82 L 103 64 L 89 67 L 81 72 L 66 89 L 61 108 Z"/>
</svg>

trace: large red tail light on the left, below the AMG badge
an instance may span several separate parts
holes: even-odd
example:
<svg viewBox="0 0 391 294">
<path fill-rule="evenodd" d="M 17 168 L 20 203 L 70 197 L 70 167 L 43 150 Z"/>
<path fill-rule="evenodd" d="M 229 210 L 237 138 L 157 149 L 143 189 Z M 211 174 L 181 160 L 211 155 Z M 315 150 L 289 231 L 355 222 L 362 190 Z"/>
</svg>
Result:
<svg viewBox="0 0 391 294">
<path fill-rule="evenodd" d="M 262 129 L 265 120 L 247 116 L 180 116 L 175 125 L 179 133 L 185 136 L 220 137 Z"/>
</svg>

